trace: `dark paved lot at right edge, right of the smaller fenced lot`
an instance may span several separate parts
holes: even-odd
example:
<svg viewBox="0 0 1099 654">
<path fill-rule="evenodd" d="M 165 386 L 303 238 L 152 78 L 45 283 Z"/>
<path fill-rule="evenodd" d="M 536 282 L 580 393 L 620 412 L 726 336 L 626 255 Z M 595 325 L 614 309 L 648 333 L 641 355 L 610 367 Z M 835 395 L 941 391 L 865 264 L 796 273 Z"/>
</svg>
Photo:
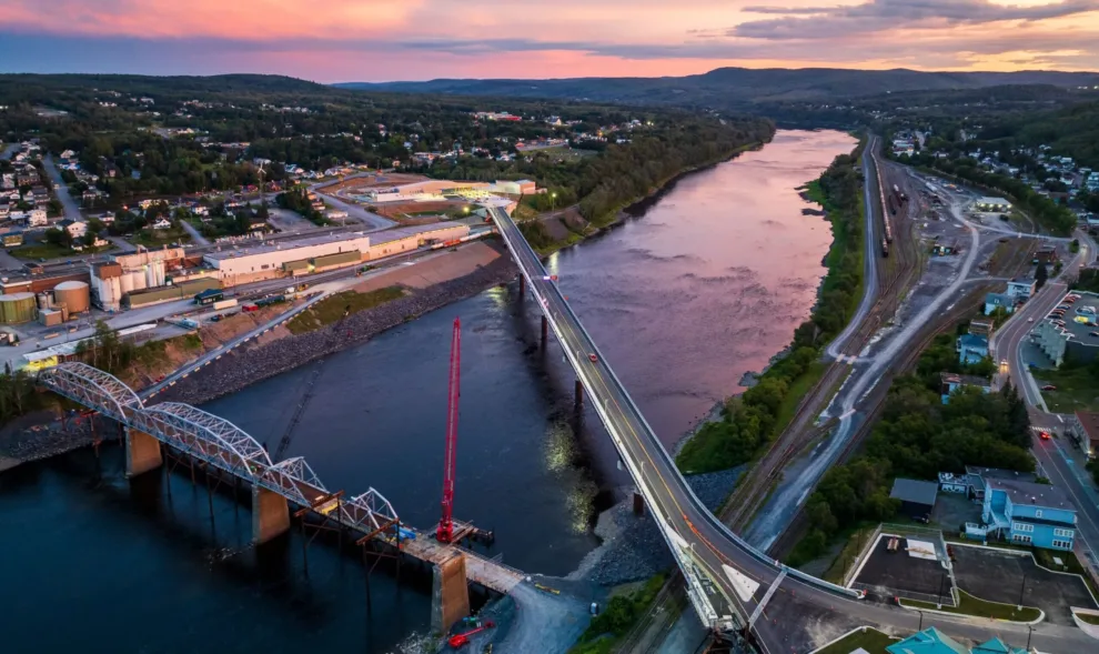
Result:
<svg viewBox="0 0 1099 654">
<path fill-rule="evenodd" d="M 981 600 L 1018 604 L 1021 593 L 1024 605 L 1045 611 L 1048 622 L 1069 626 L 1075 624 L 1069 607 L 1099 608 L 1083 580 L 1039 567 L 1029 554 L 964 545 L 951 549 L 958 587 Z"/>
</svg>

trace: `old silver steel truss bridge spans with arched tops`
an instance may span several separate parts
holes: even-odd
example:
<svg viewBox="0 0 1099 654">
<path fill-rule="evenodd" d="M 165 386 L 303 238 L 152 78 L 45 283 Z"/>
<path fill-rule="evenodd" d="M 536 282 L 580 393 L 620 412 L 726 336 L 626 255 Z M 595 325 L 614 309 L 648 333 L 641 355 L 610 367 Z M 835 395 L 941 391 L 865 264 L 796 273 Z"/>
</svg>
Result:
<svg viewBox="0 0 1099 654">
<path fill-rule="evenodd" d="M 344 499 L 332 493 L 301 456 L 271 461 L 268 451 L 244 430 L 223 417 L 180 402 L 145 406 L 130 386 L 84 363 L 62 363 L 43 370 L 39 383 L 118 421 L 213 469 L 265 489 L 303 509 L 320 510 L 327 520 L 366 536 L 400 524 L 393 505 L 369 489 Z M 319 506 L 320 503 L 320 506 Z"/>
</svg>

